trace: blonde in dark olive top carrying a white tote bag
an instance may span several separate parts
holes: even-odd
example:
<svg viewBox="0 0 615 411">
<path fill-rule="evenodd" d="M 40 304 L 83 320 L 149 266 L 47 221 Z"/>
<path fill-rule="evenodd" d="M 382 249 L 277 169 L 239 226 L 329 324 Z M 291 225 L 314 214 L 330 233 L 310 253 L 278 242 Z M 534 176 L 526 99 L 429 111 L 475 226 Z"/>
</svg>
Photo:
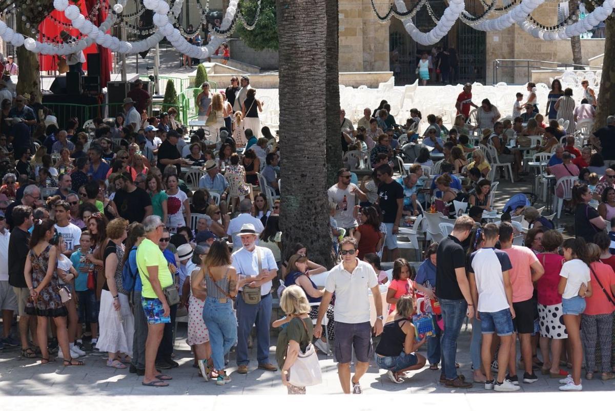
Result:
<svg viewBox="0 0 615 411">
<path fill-rule="evenodd" d="M 287 287 L 280 298 L 280 308 L 286 314 L 283 323 L 288 324 L 280 331 L 276 346 L 277 365 L 282 370 L 282 384 L 287 387 L 288 394 L 305 394 L 305 387 L 292 385 L 288 378 L 290 367 L 295 364 L 300 350 L 304 353 L 314 337 L 314 325 L 308 315 L 310 306 L 306 293 L 298 285 Z"/>
</svg>

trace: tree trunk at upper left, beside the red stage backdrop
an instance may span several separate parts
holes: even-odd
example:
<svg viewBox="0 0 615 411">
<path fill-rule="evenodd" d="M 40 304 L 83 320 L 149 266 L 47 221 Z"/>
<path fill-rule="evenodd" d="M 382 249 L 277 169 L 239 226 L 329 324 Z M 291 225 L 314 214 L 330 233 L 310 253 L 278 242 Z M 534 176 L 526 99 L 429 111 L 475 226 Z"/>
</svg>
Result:
<svg viewBox="0 0 615 411">
<path fill-rule="evenodd" d="M 41 6 L 42 10 L 38 7 Z M 17 9 L 17 33 L 22 33 L 26 37 L 32 37 L 31 28 L 26 28 L 26 23 L 30 22 L 31 27 L 38 27 L 39 23 L 47 17 L 54 9 L 53 0 L 38 0 L 33 2 L 23 2 Z M 26 17 L 26 21 L 22 20 Z M 17 47 L 17 63 L 19 64 L 19 74 L 17 76 L 17 94 L 30 94 L 30 103 L 40 103 L 41 95 L 41 75 L 39 71 L 38 54 L 26 50 L 25 47 Z"/>
</svg>

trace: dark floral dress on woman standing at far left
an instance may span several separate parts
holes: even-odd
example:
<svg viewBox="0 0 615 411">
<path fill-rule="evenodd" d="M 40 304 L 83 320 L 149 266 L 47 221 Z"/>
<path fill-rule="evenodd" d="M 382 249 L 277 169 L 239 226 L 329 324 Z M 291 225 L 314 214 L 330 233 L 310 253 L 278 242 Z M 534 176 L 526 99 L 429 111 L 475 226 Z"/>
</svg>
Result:
<svg viewBox="0 0 615 411">
<path fill-rule="evenodd" d="M 40 255 L 36 255 L 34 250 L 30 250 L 28 258 L 32 263 L 32 286 L 34 288 L 41 284 L 47 274 L 49 266 L 49 250 L 52 245 L 48 244 Z M 62 304 L 62 299 L 58 293 L 60 282 L 58 274 L 54 271 L 49 284 L 41 290 L 36 301 L 28 300 L 26 314 L 39 317 L 63 317 L 68 314 L 66 307 Z"/>
</svg>

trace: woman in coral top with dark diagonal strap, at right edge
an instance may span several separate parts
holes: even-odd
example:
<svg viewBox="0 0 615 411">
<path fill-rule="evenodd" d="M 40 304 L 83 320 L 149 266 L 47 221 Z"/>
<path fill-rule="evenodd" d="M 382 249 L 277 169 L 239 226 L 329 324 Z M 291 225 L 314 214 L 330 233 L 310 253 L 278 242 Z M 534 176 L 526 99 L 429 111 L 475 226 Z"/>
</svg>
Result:
<svg viewBox="0 0 615 411">
<path fill-rule="evenodd" d="M 607 235 L 607 234 L 605 234 Z M 588 244 L 590 254 L 590 277 L 593 293 L 585 298 L 585 311 L 581 315 L 581 341 L 585 351 L 585 378 L 593 378 L 596 369 L 596 345 L 600 341 L 602 380 L 611 380 L 611 340 L 613 336 L 613 311 L 615 306 L 615 272 L 611 266 L 600 261 L 602 250 L 596 244 Z"/>
</svg>

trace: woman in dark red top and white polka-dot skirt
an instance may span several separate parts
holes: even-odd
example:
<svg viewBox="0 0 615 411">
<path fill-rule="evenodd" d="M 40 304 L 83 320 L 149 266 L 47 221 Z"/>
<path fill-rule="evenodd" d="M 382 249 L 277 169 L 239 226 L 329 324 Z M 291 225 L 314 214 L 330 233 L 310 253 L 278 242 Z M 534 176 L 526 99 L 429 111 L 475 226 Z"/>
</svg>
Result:
<svg viewBox="0 0 615 411">
<path fill-rule="evenodd" d="M 564 242 L 561 233 L 551 229 L 542 235 L 544 252 L 536 255 L 544 267 L 544 274 L 536 281 L 538 293 L 538 317 L 540 322 L 540 349 L 542 353 L 542 374 L 557 378 L 567 373 L 560 370 L 562 340 L 568 338 L 561 316 L 561 295 L 557 292 L 560 271 L 564 258 L 557 249 Z M 549 356 L 549 340 L 551 356 Z M 553 360 L 552 360 L 553 359 Z"/>
</svg>

